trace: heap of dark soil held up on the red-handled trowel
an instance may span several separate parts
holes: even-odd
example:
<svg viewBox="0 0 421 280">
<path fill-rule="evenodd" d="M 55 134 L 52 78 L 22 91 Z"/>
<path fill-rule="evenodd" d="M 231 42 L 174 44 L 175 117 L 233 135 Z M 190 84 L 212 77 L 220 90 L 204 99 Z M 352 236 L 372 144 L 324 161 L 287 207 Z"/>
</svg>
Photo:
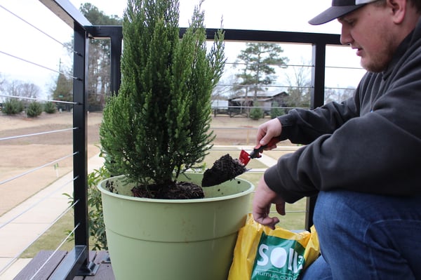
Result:
<svg viewBox="0 0 421 280">
<path fill-rule="evenodd" d="M 239 159 L 233 159 L 229 154 L 225 154 L 215 161 L 212 168 L 206 169 L 203 174 L 202 187 L 219 185 L 222 182 L 232 180 L 236 176 L 246 172 L 246 167 Z"/>
</svg>

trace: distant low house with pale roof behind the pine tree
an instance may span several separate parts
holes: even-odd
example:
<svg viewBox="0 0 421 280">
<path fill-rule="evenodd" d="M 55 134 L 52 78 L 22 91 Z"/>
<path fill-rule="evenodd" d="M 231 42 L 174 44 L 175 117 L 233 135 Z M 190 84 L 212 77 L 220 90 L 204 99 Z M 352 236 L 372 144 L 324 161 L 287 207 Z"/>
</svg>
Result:
<svg viewBox="0 0 421 280">
<path fill-rule="evenodd" d="M 276 102 L 279 107 L 286 107 L 286 98 L 288 93 L 285 91 L 260 91 L 257 95 L 258 106 L 263 107 L 265 112 L 270 111 L 270 108 Z M 254 107 L 254 93 L 248 93 L 248 96 L 241 95 L 229 99 L 229 107 Z"/>
</svg>

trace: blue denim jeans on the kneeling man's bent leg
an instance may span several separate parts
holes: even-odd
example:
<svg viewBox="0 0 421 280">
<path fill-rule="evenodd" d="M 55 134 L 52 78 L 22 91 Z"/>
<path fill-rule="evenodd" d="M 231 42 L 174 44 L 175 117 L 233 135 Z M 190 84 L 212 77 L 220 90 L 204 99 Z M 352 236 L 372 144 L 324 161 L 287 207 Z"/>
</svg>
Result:
<svg viewBox="0 0 421 280">
<path fill-rule="evenodd" d="M 302 280 L 421 279 L 421 196 L 320 192 L 314 225 L 322 256 Z"/>
</svg>

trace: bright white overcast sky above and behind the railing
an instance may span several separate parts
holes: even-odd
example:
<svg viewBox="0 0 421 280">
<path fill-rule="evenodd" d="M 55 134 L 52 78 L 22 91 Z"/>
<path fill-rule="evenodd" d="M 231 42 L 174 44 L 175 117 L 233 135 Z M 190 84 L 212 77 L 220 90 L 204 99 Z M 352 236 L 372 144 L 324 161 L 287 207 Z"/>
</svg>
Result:
<svg viewBox="0 0 421 280">
<path fill-rule="evenodd" d="M 97 6 L 106 15 L 122 17 L 126 0 L 69 0 L 76 8 L 82 3 Z M 199 0 L 180 0 L 180 26 L 186 27 L 194 5 Z M 206 0 L 203 3 L 206 27 L 217 28 L 223 18 L 227 29 L 261 29 L 274 31 L 333 33 L 340 32 L 337 21 L 326 25 L 312 26 L 307 20 L 330 6 L 331 0 Z M 41 29 L 53 39 L 22 22 L 8 11 Z M 7 79 L 29 81 L 40 86 L 44 96 L 49 92 L 58 74 L 60 61 L 69 67 L 70 59 L 66 49 L 57 41 L 65 43 L 72 38 L 72 29 L 61 22 L 38 0 L 0 0 L 0 73 Z M 310 46 L 282 45 L 282 56 L 290 64 L 300 65 L 311 59 Z M 234 61 L 239 49 L 235 44 L 226 44 L 229 61 Z M 328 66 L 359 67 L 359 58 L 349 47 L 329 48 Z M 6 54 L 5 54 L 6 53 Z M 47 67 L 30 65 L 11 55 Z M 326 86 L 356 86 L 363 70 L 327 69 Z"/>
</svg>

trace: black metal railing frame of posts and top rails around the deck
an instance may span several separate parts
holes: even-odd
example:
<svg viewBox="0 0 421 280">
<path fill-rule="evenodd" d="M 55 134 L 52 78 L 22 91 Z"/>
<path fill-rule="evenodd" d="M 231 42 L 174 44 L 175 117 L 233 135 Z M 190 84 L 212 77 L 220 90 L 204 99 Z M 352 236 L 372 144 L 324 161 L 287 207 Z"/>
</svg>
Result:
<svg viewBox="0 0 421 280">
<path fill-rule="evenodd" d="M 87 105 L 88 105 L 88 40 L 92 38 L 111 41 L 111 91 L 116 93 L 121 84 L 122 27 L 92 25 L 69 0 L 39 0 L 74 30 L 74 249 L 56 269 L 51 279 L 73 279 L 81 274 L 94 274 L 95 265 L 89 260 L 88 250 L 88 160 L 87 160 Z M 208 39 L 213 39 L 217 29 L 207 29 Z M 185 28 L 180 29 L 180 36 Z M 337 34 L 306 32 L 273 32 L 262 30 L 225 29 L 225 41 L 278 42 L 312 45 L 311 108 L 323 105 L 325 88 L 326 46 L 340 45 Z M 313 224 L 312 216 L 316 197 L 307 199 L 305 227 Z"/>
</svg>

